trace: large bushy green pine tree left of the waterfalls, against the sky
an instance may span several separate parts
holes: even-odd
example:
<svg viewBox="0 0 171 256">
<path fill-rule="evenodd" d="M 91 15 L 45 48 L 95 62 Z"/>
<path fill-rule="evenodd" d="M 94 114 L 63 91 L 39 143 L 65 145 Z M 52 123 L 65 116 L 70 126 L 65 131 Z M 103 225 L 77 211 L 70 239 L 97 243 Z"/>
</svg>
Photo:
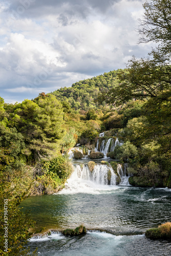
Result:
<svg viewBox="0 0 171 256">
<path fill-rule="evenodd" d="M 34 159 L 55 155 L 59 151 L 63 129 L 63 109 L 54 95 L 43 93 L 33 100 L 15 104 L 9 125 L 24 136 L 28 155 Z M 30 153 L 29 153 L 30 151 Z"/>
</svg>

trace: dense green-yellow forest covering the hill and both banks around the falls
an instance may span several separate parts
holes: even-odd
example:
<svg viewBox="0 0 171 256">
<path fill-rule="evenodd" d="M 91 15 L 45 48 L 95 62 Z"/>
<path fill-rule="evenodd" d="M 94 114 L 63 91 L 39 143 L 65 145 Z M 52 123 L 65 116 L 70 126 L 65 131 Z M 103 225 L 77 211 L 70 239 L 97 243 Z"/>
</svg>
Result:
<svg viewBox="0 0 171 256">
<path fill-rule="evenodd" d="M 132 185 L 171 187 L 171 66 L 169 1 L 144 4 L 140 42 L 160 42 L 147 58 L 124 70 L 76 82 L 35 99 L 8 104 L 0 98 L 2 255 L 28 255 L 23 245 L 34 223 L 18 204 L 52 194 L 72 173 L 68 151 L 76 143 L 93 150 L 99 133 L 123 145 L 108 153 L 127 163 Z M 4 199 L 8 198 L 9 253 L 3 250 Z M 35 252 L 36 254 L 36 252 Z"/>
</svg>

